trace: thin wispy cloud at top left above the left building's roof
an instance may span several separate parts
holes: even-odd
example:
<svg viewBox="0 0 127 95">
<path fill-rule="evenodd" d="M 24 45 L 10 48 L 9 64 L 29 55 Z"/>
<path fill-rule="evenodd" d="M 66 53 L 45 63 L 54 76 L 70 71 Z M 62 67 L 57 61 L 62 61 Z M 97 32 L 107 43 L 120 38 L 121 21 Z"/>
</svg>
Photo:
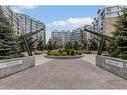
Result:
<svg viewBox="0 0 127 95">
<path fill-rule="evenodd" d="M 37 6 L 31 6 L 31 5 L 28 5 L 28 6 L 11 6 L 12 10 L 14 12 L 18 12 L 18 13 L 23 13 L 23 10 L 25 9 L 28 9 L 28 10 L 31 10 L 31 9 L 35 9 Z"/>
</svg>

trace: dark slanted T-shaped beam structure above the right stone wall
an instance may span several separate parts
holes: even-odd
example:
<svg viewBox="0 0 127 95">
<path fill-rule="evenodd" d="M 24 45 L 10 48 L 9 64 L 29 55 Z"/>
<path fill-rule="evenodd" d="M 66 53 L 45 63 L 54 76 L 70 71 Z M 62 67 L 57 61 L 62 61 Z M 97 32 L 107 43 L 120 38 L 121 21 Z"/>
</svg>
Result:
<svg viewBox="0 0 127 95">
<path fill-rule="evenodd" d="M 94 32 L 94 31 L 91 31 L 91 30 L 87 30 L 87 29 L 85 29 L 85 28 L 84 28 L 84 31 L 89 32 L 89 33 L 92 33 L 92 34 L 94 34 L 94 35 L 96 35 L 96 36 L 98 36 L 98 37 L 101 38 L 100 46 L 99 46 L 98 53 L 97 53 L 97 55 L 101 55 L 102 49 L 104 48 L 105 40 L 111 41 L 111 40 L 112 40 L 112 37 L 109 37 L 109 36 L 107 36 L 107 35 L 100 34 L 100 33 L 98 33 L 98 32 Z"/>
</svg>

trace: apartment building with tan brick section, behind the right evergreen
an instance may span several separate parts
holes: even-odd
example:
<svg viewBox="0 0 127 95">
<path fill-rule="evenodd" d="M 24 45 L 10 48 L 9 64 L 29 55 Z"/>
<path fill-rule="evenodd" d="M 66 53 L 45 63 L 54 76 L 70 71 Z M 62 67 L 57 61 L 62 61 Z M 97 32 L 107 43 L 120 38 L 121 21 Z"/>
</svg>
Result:
<svg viewBox="0 0 127 95">
<path fill-rule="evenodd" d="M 118 17 L 122 14 L 122 6 L 109 6 L 98 10 L 97 17 L 94 18 L 92 23 L 92 30 L 108 36 L 112 36 L 115 31 L 114 24 Z"/>
</svg>

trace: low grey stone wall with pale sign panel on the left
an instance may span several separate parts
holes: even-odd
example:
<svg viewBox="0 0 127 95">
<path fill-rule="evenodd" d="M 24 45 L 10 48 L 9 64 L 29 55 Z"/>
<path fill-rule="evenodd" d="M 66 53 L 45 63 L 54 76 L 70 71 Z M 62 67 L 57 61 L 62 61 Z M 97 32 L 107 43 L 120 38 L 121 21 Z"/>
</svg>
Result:
<svg viewBox="0 0 127 95">
<path fill-rule="evenodd" d="M 0 78 L 15 74 L 35 66 L 35 57 L 23 57 L 0 61 Z"/>
</svg>

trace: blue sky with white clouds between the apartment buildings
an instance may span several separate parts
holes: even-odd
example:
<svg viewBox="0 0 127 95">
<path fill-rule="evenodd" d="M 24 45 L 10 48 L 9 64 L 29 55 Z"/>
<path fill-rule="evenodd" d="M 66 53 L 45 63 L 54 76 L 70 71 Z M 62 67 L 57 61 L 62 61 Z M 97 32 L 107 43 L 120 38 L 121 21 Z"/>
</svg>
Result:
<svg viewBox="0 0 127 95">
<path fill-rule="evenodd" d="M 97 11 L 104 6 L 11 6 L 15 12 L 24 13 L 46 25 L 46 42 L 53 30 L 73 30 L 91 24 Z"/>
</svg>

